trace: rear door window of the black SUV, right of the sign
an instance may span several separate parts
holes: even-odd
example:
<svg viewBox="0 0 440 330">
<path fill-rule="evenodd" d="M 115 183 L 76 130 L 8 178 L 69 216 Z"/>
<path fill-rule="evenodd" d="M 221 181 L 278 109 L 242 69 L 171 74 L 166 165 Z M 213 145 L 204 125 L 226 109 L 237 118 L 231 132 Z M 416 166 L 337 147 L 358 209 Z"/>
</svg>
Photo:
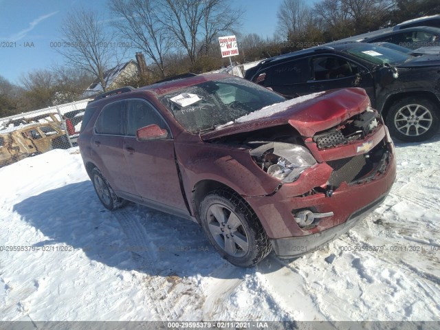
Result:
<svg viewBox="0 0 440 330">
<path fill-rule="evenodd" d="M 272 85 L 305 83 L 310 78 L 309 58 L 281 63 L 271 67 L 269 71 Z"/>
</svg>

